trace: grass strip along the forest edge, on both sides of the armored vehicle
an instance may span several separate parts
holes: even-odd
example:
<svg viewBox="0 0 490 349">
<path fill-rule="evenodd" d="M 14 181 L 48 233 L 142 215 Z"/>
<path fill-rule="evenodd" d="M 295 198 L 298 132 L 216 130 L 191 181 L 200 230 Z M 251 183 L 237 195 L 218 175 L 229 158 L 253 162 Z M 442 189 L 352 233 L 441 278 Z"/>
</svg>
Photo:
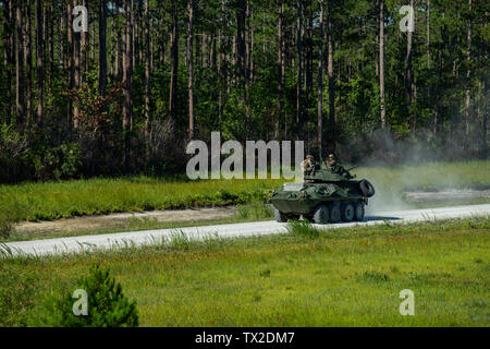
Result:
<svg viewBox="0 0 490 349">
<path fill-rule="evenodd" d="M 406 189 L 488 188 L 490 161 L 364 167 L 357 177 L 377 189 L 380 207 L 403 206 Z M 146 177 L 0 185 L 1 214 L 44 220 L 119 212 L 236 205 L 265 201 L 282 180 L 155 179 Z M 405 205 L 406 206 L 406 205 Z M 1 217 L 0 217 L 1 218 Z"/>
</svg>

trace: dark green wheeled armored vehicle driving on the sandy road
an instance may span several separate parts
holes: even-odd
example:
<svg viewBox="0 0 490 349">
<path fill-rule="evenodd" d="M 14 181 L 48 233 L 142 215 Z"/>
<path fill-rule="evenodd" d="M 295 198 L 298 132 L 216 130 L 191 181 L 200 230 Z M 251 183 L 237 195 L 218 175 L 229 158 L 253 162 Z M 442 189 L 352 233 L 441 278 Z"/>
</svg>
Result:
<svg viewBox="0 0 490 349">
<path fill-rule="evenodd" d="M 272 192 L 275 220 L 283 222 L 301 216 L 316 224 L 364 220 L 365 206 L 375 195 L 375 188 L 365 179 L 354 178 L 347 170 L 339 173 L 316 164 L 305 172 L 303 183 L 285 183 Z"/>
</svg>

